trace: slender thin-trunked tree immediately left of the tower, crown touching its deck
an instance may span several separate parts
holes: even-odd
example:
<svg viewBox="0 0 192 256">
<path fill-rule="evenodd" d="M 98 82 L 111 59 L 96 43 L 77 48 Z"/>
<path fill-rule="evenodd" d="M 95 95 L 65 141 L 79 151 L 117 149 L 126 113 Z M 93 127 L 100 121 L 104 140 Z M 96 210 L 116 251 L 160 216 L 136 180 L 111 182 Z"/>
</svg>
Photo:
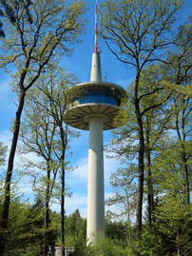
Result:
<svg viewBox="0 0 192 256">
<path fill-rule="evenodd" d="M 37 85 L 37 90 L 44 95 L 46 104 L 41 100 L 36 99 L 37 104 L 46 111 L 46 114 L 51 117 L 57 130 L 59 140 L 57 142 L 56 158 L 59 164 L 61 173 L 61 245 L 62 255 L 65 255 L 65 194 L 66 194 L 66 152 L 67 141 L 69 138 L 77 136 L 78 133 L 72 132 L 65 124 L 67 118 L 67 100 L 69 100 L 69 92 L 67 88 L 73 86 L 76 78 L 72 73 L 67 73 L 66 70 L 60 69 L 57 74 L 49 73 L 47 77 L 41 79 Z M 74 95 L 73 95 L 74 96 Z"/>
</svg>

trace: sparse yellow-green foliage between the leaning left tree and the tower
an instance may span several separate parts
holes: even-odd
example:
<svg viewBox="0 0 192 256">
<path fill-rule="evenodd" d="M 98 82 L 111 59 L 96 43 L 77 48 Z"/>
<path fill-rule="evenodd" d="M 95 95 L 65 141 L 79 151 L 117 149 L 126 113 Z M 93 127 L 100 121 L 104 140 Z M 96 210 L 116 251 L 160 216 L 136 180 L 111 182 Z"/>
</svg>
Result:
<svg viewBox="0 0 192 256">
<path fill-rule="evenodd" d="M 72 86 L 76 78 L 66 69 L 58 68 L 57 71 L 44 74 L 39 83 L 29 90 L 20 132 L 24 144 L 20 147 L 23 166 L 27 173 L 32 173 L 33 188 L 41 191 L 42 196 L 45 192 L 43 188 L 49 185 L 49 199 L 61 195 L 57 172 L 62 167 L 67 169 L 68 163 L 64 159 L 68 149 L 67 141 L 76 135 L 63 122 L 67 108 L 67 87 Z M 36 153 L 39 161 L 31 161 L 28 157 L 25 159 L 23 156 L 29 152 Z M 49 171 L 49 179 L 46 171 Z"/>
</svg>

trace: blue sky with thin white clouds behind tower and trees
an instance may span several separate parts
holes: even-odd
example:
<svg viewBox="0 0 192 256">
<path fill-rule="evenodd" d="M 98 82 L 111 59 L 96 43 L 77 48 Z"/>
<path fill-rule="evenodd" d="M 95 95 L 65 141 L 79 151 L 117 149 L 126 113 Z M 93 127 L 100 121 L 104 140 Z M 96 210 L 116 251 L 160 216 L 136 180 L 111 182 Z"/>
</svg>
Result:
<svg viewBox="0 0 192 256">
<path fill-rule="evenodd" d="M 102 0 L 99 0 L 100 4 Z M 68 71 L 74 72 L 81 82 L 90 81 L 91 56 L 94 51 L 94 22 L 95 22 L 95 1 L 88 0 L 86 5 L 89 10 L 86 13 L 87 30 L 81 39 L 83 43 L 74 47 L 74 52 L 71 57 L 64 57 L 61 65 Z M 192 14 L 192 1 L 185 0 L 185 5 L 180 13 L 182 19 L 188 14 Z M 125 66 L 106 48 L 106 45 L 101 40 L 99 41 L 99 49 L 101 49 L 102 76 L 104 80 L 104 72 L 106 70 L 106 81 L 115 83 L 123 88 L 133 81 L 134 74 L 130 67 Z M 0 142 L 10 147 L 11 141 L 11 122 L 14 119 L 16 111 L 16 97 L 10 88 L 10 74 L 5 73 L 0 69 Z M 104 132 L 104 144 L 111 138 L 111 132 Z M 81 131 L 79 139 L 72 141 L 70 150 L 73 155 L 68 158 L 70 165 L 77 167 L 74 171 L 67 173 L 67 186 L 70 187 L 72 197 L 66 198 L 66 212 L 70 214 L 79 208 L 83 217 L 86 217 L 86 192 L 87 192 L 87 164 L 88 164 L 88 131 Z M 30 155 L 30 159 L 35 159 L 34 155 Z M 20 162 L 19 156 L 16 156 L 15 167 Z M 115 159 L 106 158 L 105 152 L 105 196 L 108 198 L 113 194 L 109 185 L 109 177 L 114 172 L 120 163 Z M 31 187 L 27 184 L 22 184 L 21 191 L 25 196 L 31 199 Z M 52 206 L 52 209 L 59 211 L 59 205 Z M 108 209 L 108 207 L 106 207 Z M 111 210 L 118 210 L 116 207 Z"/>
</svg>

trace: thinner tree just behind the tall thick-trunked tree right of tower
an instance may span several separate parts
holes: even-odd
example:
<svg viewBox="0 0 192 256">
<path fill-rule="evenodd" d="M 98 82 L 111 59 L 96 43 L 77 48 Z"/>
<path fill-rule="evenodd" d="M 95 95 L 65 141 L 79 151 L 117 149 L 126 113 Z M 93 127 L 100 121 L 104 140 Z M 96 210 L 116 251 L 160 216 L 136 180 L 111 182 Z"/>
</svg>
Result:
<svg viewBox="0 0 192 256">
<path fill-rule="evenodd" d="M 163 81 L 165 78 L 163 66 L 150 65 L 142 71 L 140 77 L 140 109 L 144 129 L 144 192 L 146 191 L 147 194 L 147 220 L 149 226 L 152 223 L 152 211 L 154 209 L 151 168 L 152 153 L 159 147 L 160 140 L 167 131 L 169 119 L 172 115 L 167 106 L 174 88 L 172 89 Z M 121 124 L 119 126 L 121 128 L 113 131 L 113 139 L 110 144 L 111 150 L 116 153 L 117 157 L 126 166 L 125 170 L 117 171 L 115 178 L 112 177 L 111 185 L 112 187 L 118 187 L 119 183 L 119 186 L 121 185 L 120 187 L 125 187 L 126 193 L 129 193 L 128 199 L 130 199 L 131 194 L 137 191 L 136 186 L 133 186 L 133 184 L 136 183 L 138 178 L 136 163 L 140 148 L 132 95 L 133 88 L 129 87 L 127 89 L 127 102 L 116 120 L 116 122 Z M 117 184 L 116 181 L 118 181 Z M 121 192 L 118 197 L 119 203 L 123 203 L 124 194 Z M 112 203 L 112 201 L 110 202 Z M 113 200 L 113 202 L 115 201 Z"/>
</svg>

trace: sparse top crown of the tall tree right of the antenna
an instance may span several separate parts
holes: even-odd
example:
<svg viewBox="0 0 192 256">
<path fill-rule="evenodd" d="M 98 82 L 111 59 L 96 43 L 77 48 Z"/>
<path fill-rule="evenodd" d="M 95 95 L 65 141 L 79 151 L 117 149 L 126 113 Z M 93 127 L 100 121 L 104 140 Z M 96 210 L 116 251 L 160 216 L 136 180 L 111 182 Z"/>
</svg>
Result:
<svg viewBox="0 0 192 256">
<path fill-rule="evenodd" d="M 168 32 L 182 4 L 182 0 L 106 0 L 100 9 L 102 37 L 119 60 L 138 68 L 141 61 L 142 69 L 169 45 Z"/>
</svg>

